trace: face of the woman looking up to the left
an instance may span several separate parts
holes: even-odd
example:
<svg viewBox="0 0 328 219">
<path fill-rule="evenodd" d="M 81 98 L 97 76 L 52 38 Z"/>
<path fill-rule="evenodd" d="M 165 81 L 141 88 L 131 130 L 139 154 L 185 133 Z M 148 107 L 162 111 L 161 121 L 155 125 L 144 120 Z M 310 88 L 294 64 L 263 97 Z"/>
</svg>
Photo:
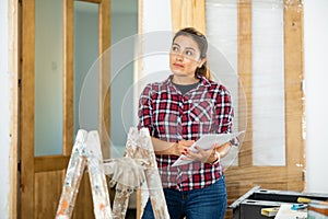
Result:
<svg viewBox="0 0 328 219">
<path fill-rule="evenodd" d="M 200 59 L 200 50 L 191 37 L 180 35 L 175 38 L 169 51 L 169 68 L 174 76 L 194 78 L 196 68 L 204 61 Z"/>
</svg>

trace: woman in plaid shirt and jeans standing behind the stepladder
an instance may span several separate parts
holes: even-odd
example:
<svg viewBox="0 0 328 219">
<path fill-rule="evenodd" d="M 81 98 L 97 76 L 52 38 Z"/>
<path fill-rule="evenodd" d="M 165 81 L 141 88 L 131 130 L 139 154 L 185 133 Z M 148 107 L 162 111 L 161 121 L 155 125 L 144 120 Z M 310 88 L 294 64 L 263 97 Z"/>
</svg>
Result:
<svg viewBox="0 0 328 219">
<path fill-rule="evenodd" d="M 173 38 L 172 74 L 148 84 L 139 102 L 139 128 L 152 136 L 165 199 L 172 219 L 221 219 L 226 189 L 220 158 L 231 142 L 211 150 L 189 147 L 204 134 L 230 132 L 233 108 L 226 88 L 212 81 L 206 68 L 208 42 L 195 28 L 184 28 Z M 172 166 L 180 154 L 195 160 Z M 154 218 L 148 201 L 142 218 Z"/>
</svg>

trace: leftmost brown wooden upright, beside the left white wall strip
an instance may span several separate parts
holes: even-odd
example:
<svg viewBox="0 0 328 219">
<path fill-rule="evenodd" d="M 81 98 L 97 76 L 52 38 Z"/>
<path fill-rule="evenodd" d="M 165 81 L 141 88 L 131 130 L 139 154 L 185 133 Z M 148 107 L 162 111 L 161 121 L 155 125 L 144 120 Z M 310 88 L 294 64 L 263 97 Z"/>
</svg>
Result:
<svg viewBox="0 0 328 219">
<path fill-rule="evenodd" d="M 28 215 L 31 218 L 34 218 L 34 0 L 22 1 L 22 94 L 20 108 L 22 172 L 20 184 L 20 214 L 21 216 Z"/>
</svg>

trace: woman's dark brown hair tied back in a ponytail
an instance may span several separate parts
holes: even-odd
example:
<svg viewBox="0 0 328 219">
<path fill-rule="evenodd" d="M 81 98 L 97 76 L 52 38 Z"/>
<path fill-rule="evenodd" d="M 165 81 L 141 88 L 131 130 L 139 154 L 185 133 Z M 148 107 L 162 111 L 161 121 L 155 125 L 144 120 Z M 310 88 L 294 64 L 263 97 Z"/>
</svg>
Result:
<svg viewBox="0 0 328 219">
<path fill-rule="evenodd" d="M 203 59 L 203 58 L 207 57 L 207 53 L 208 53 L 208 39 L 207 39 L 207 37 L 202 33 L 200 33 L 199 31 L 197 31 L 194 27 L 181 28 L 181 30 L 179 30 L 174 35 L 173 42 L 178 36 L 189 36 L 189 37 L 191 37 L 196 42 L 196 44 L 197 44 L 197 46 L 198 46 L 198 48 L 200 50 L 200 58 Z M 204 76 L 207 79 L 211 78 L 210 72 L 207 69 L 207 62 L 204 62 L 200 68 L 196 69 L 196 71 L 195 71 L 195 78 L 198 74 Z"/>
</svg>

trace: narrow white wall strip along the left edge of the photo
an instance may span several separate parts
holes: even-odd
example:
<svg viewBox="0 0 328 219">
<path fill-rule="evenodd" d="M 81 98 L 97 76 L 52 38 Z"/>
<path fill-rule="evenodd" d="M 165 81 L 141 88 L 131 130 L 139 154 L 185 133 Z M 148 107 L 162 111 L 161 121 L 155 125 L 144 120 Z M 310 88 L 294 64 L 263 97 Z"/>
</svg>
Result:
<svg viewBox="0 0 328 219">
<path fill-rule="evenodd" d="M 8 1 L 0 1 L 0 218 L 9 218 L 10 81 L 8 67 Z"/>
</svg>

